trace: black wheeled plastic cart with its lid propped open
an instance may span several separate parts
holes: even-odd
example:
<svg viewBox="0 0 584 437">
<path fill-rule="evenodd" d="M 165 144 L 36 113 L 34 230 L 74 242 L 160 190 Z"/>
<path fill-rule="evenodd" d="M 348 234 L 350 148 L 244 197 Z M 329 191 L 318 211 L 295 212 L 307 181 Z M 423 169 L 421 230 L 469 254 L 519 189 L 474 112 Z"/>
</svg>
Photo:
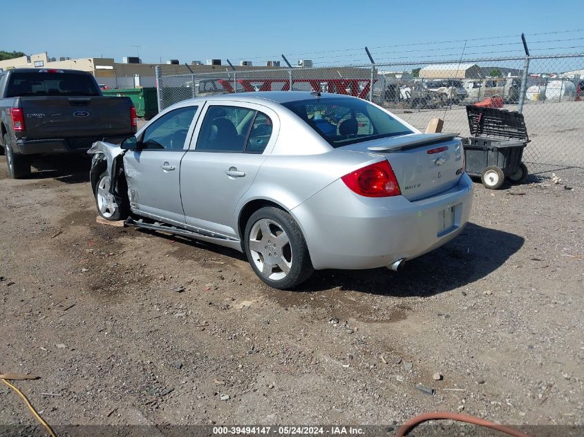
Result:
<svg viewBox="0 0 584 437">
<path fill-rule="evenodd" d="M 464 138 L 467 173 L 479 177 L 482 184 L 497 190 L 505 177 L 522 184 L 529 175 L 521 162 L 529 142 L 523 115 L 505 109 L 467 105 L 471 136 Z"/>
</svg>

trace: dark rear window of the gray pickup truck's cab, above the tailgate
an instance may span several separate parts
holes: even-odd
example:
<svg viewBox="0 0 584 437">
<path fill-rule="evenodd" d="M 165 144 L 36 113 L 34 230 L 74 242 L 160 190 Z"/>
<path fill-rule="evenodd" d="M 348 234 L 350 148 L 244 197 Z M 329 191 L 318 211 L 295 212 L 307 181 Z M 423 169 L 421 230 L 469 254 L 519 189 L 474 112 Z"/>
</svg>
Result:
<svg viewBox="0 0 584 437">
<path fill-rule="evenodd" d="M 89 75 L 66 72 L 15 72 L 10 75 L 6 97 L 44 95 L 98 96 L 100 90 Z"/>
</svg>

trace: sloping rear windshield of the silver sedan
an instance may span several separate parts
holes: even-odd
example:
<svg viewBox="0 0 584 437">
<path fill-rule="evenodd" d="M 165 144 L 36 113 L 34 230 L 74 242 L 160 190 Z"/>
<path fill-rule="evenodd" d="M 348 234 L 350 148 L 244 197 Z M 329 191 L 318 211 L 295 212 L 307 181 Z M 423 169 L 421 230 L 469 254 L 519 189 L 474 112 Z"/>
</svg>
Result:
<svg viewBox="0 0 584 437">
<path fill-rule="evenodd" d="M 413 133 L 384 110 L 361 99 L 308 99 L 283 106 L 303 119 L 333 147 Z"/>
</svg>

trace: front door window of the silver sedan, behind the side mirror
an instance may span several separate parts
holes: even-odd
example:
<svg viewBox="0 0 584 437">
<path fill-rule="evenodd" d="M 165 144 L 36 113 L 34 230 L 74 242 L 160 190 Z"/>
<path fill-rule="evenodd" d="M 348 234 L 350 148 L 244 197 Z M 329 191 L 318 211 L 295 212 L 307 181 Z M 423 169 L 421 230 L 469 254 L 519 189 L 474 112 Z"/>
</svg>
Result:
<svg viewBox="0 0 584 437">
<path fill-rule="evenodd" d="M 178 108 L 153 122 L 142 137 L 142 150 L 182 150 L 197 108 Z"/>
</svg>

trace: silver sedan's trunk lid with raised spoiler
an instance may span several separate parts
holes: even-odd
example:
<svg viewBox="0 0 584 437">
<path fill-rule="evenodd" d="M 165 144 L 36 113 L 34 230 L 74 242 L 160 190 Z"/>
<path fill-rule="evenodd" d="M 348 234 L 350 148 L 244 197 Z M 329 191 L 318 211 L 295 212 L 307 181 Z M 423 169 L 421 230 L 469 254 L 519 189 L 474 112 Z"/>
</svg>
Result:
<svg viewBox="0 0 584 437">
<path fill-rule="evenodd" d="M 455 133 L 411 134 L 343 146 L 341 150 L 382 155 L 408 200 L 452 188 L 462 175 L 464 151 Z"/>
</svg>

